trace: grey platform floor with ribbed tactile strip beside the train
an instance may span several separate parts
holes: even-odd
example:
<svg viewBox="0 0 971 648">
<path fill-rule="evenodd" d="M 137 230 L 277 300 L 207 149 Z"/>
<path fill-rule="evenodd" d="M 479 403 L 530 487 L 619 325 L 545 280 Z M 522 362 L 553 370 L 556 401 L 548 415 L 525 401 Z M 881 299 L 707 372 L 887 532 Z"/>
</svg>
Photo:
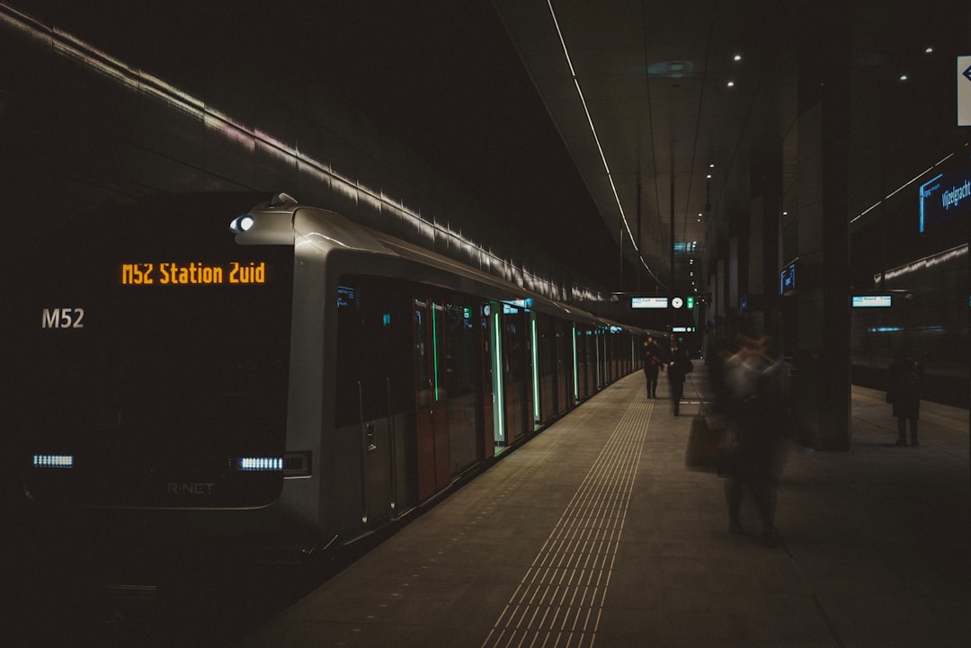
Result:
<svg viewBox="0 0 971 648">
<path fill-rule="evenodd" d="M 686 470 L 707 377 L 673 416 L 664 376 L 581 405 L 300 600 L 240 648 L 971 645 L 968 411 L 921 404 L 898 447 L 853 388 L 852 449 L 787 452 L 781 542 L 751 500 Z"/>
</svg>

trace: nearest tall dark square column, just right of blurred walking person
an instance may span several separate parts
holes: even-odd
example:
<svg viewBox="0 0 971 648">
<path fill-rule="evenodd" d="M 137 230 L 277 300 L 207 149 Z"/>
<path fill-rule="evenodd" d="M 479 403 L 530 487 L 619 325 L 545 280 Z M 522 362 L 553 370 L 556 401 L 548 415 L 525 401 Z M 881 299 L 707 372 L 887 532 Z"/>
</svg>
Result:
<svg viewBox="0 0 971 648">
<path fill-rule="evenodd" d="M 810 24 L 799 51 L 797 418 L 812 447 L 850 447 L 850 40 Z M 821 38 L 822 35 L 825 38 Z M 825 43 L 825 48 L 818 48 Z"/>
</svg>

